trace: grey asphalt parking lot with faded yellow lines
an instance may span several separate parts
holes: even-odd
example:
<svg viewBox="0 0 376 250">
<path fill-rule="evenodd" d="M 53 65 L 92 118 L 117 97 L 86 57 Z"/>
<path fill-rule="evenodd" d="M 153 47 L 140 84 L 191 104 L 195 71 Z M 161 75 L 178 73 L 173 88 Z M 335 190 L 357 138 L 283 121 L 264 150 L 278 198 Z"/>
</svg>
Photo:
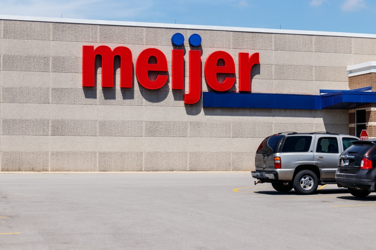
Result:
<svg viewBox="0 0 376 250">
<path fill-rule="evenodd" d="M 0 249 L 374 249 L 376 195 L 249 172 L 0 174 Z"/>
</svg>

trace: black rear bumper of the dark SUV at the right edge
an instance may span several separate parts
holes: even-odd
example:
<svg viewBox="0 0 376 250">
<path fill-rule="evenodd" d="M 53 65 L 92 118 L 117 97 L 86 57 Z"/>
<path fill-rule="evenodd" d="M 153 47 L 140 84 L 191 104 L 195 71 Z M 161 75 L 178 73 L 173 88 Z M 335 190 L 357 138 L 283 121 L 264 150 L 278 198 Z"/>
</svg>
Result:
<svg viewBox="0 0 376 250">
<path fill-rule="evenodd" d="M 375 191 L 376 172 L 368 169 L 361 169 L 357 174 L 344 174 L 337 171 L 335 181 L 342 187 L 358 187 L 370 192 Z"/>
</svg>

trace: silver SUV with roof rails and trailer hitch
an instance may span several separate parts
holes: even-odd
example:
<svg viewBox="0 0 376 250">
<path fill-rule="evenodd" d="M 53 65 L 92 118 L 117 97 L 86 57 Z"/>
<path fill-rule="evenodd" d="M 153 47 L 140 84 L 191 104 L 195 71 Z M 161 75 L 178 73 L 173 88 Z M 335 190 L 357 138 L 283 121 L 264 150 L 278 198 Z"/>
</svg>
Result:
<svg viewBox="0 0 376 250">
<path fill-rule="evenodd" d="M 338 157 L 358 137 L 329 132 L 283 132 L 268 136 L 256 151 L 257 183 L 271 183 L 279 192 L 314 193 L 318 185 L 336 184 Z"/>
</svg>

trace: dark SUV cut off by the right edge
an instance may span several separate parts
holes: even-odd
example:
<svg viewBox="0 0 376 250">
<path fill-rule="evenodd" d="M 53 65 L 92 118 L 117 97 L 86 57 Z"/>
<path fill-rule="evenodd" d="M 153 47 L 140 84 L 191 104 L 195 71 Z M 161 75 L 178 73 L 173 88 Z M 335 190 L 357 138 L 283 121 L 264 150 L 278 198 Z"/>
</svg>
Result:
<svg viewBox="0 0 376 250">
<path fill-rule="evenodd" d="M 335 181 L 338 187 L 347 187 L 356 197 L 365 197 L 375 191 L 376 139 L 354 141 L 338 160 Z"/>
</svg>

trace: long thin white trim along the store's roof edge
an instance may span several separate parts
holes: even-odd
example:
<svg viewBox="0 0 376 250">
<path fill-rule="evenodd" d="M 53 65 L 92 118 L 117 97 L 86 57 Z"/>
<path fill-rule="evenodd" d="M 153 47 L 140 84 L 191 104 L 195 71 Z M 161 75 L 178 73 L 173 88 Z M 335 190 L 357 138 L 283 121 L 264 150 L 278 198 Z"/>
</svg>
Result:
<svg viewBox="0 0 376 250">
<path fill-rule="evenodd" d="M 359 33 L 343 33 L 343 32 L 328 32 L 328 31 L 306 31 L 306 30 L 278 30 L 278 29 L 270 29 L 270 28 L 243 28 L 243 27 L 225 27 L 225 26 L 190 25 L 190 24 L 161 24 L 161 23 L 153 23 L 153 22 L 104 21 L 104 20 L 91 20 L 91 19 L 71 19 L 71 18 L 37 17 L 37 16 L 0 15 L 0 19 L 39 21 L 39 22 L 67 22 L 67 23 L 78 23 L 78 24 L 106 24 L 106 25 L 139 26 L 139 27 L 186 28 L 186 29 L 197 29 L 197 30 L 226 30 L 226 31 L 245 31 L 245 32 L 259 32 L 259 33 L 376 38 L 376 34 L 359 34 Z"/>
</svg>

